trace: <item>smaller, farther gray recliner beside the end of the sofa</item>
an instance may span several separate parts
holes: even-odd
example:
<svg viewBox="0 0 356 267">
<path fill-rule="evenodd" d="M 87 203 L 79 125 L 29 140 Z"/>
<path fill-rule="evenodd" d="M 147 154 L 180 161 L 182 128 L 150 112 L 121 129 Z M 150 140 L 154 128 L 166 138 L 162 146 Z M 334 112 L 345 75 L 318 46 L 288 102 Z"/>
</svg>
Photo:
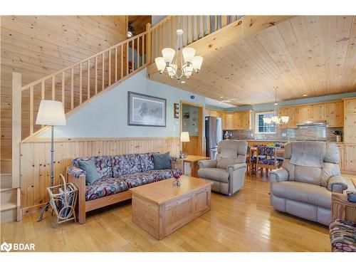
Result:
<svg viewBox="0 0 356 267">
<path fill-rule="evenodd" d="M 211 190 L 231 196 L 244 186 L 247 142 L 219 142 L 216 159 L 199 160 L 198 175 L 209 179 Z"/>
</svg>

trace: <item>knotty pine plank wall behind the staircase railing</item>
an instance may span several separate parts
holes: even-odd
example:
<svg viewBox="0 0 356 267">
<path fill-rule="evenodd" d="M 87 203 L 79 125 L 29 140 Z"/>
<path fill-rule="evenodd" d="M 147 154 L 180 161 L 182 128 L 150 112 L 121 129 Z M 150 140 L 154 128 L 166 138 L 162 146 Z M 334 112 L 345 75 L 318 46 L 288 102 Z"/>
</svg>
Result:
<svg viewBox="0 0 356 267">
<path fill-rule="evenodd" d="M 120 43 L 126 39 L 127 17 L 1 16 L 0 31 L 1 159 L 11 159 L 11 73 L 13 71 L 21 73 L 22 85 L 26 85 Z M 105 61 L 108 61 L 108 58 L 105 58 Z M 83 66 L 83 74 L 85 75 L 85 73 L 87 72 Z M 105 71 L 105 75 L 108 75 L 107 71 Z M 90 76 L 93 77 L 93 75 Z M 86 80 L 83 76 L 83 88 L 86 88 Z M 56 79 L 56 83 L 59 88 L 61 80 Z M 79 83 L 77 77 L 75 77 L 75 83 Z M 101 84 L 100 78 L 98 84 Z M 39 89 L 35 88 L 35 104 L 40 101 L 41 94 L 39 92 Z M 84 92 L 85 90 L 83 90 Z M 66 99 L 69 97 L 70 94 L 66 94 Z M 22 118 L 23 121 L 28 121 L 26 120 L 29 110 L 26 105 L 26 95 L 23 98 Z M 46 96 L 46 98 L 48 97 Z M 61 98 L 59 90 L 56 93 L 56 98 L 58 100 Z M 85 96 L 83 99 L 86 99 Z M 69 108 L 69 105 L 70 101 L 66 101 L 66 108 Z M 76 105 L 78 105 L 78 93 L 75 93 Z M 26 131 L 28 131 L 28 127 L 23 125 L 23 135 L 25 136 Z M 4 160 L 1 160 L 1 172 L 9 172 L 9 168 L 4 169 L 3 164 Z"/>
</svg>

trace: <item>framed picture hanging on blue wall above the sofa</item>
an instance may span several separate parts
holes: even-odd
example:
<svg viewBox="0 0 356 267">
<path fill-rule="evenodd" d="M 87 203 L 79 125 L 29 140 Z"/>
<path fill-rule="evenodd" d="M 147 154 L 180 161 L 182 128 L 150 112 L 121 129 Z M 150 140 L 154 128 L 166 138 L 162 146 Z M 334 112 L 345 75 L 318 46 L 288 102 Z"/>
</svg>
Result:
<svg viewBox="0 0 356 267">
<path fill-rule="evenodd" d="M 167 100 L 127 92 L 127 125 L 166 127 Z"/>
</svg>

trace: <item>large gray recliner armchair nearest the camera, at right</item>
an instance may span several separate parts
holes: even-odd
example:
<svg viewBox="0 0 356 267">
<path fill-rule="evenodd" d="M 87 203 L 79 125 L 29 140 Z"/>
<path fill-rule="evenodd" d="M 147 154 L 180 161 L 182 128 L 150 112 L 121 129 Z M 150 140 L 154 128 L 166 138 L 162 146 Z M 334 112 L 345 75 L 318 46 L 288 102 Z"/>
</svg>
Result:
<svg viewBox="0 0 356 267">
<path fill-rule="evenodd" d="M 286 144 L 282 168 L 269 173 L 273 208 L 329 225 L 331 193 L 347 189 L 337 162 L 339 149 L 333 143 Z"/>
</svg>

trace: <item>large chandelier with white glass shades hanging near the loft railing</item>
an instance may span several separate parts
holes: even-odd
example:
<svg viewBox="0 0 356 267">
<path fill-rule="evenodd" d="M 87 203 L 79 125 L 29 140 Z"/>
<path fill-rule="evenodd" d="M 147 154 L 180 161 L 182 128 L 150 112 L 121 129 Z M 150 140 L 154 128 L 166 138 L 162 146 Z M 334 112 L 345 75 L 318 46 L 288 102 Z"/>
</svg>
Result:
<svg viewBox="0 0 356 267">
<path fill-rule="evenodd" d="M 203 57 L 195 56 L 195 49 L 191 47 L 183 48 L 182 34 L 183 30 L 178 28 L 177 45 L 175 50 L 173 48 L 163 48 L 162 57 L 155 58 L 155 63 L 159 74 L 164 73 L 167 69 L 169 78 L 177 78 L 179 83 L 185 83 L 182 78 L 189 79 L 192 73 L 195 71 L 199 73 L 201 63 L 203 63 Z"/>
</svg>

